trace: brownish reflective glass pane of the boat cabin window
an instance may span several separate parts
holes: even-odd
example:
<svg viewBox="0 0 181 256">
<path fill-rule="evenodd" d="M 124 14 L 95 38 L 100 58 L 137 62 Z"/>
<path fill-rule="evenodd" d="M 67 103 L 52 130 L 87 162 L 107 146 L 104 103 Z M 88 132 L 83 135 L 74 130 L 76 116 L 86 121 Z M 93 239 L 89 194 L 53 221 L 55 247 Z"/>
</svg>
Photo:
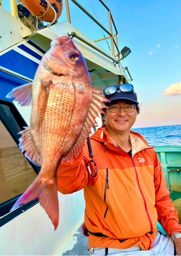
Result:
<svg viewBox="0 0 181 256">
<path fill-rule="evenodd" d="M 0 205 L 22 194 L 37 177 L 0 120 Z"/>
</svg>

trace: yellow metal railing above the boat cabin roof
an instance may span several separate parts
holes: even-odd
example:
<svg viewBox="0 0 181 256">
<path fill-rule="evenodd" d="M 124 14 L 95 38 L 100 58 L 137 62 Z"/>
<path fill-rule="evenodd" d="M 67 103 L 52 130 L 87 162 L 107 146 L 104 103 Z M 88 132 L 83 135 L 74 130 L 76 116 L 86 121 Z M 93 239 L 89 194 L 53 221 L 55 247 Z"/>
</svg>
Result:
<svg viewBox="0 0 181 256">
<path fill-rule="evenodd" d="M 77 7 L 79 7 L 84 13 L 86 13 L 101 29 L 103 29 L 109 36 L 108 37 L 104 37 L 104 38 L 100 38 L 97 40 L 94 40 L 94 42 L 97 41 L 101 41 L 101 40 L 107 40 L 109 38 L 111 38 L 111 44 L 112 44 L 112 49 L 111 49 L 111 53 L 114 57 L 117 57 L 118 60 L 120 60 L 120 51 L 118 48 L 118 39 L 117 39 L 117 28 L 113 19 L 113 16 L 111 14 L 110 9 L 107 7 L 107 5 L 102 1 L 102 0 L 98 0 L 107 10 L 108 10 L 108 15 L 109 15 L 109 25 L 110 25 L 110 31 L 107 30 L 104 26 L 102 26 L 97 19 L 95 19 L 86 9 L 84 9 L 84 7 L 82 7 L 77 1 L 75 0 L 71 0 Z M 67 21 L 71 24 L 71 19 L 70 19 L 70 10 L 69 10 L 69 4 L 68 4 L 68 0 L 65 0 L 66 3 L 66 11 L 67 11 Z M 114 29 L 116 31 L 116 33 L 113 35 L 113 27 L 112 24 L 114 26 Z M 114 37 L 116 38 L 116 40 L 114 39 Z M 117 54 L 115 54 L 115 47 L 117 50 Z"/>
</svg>

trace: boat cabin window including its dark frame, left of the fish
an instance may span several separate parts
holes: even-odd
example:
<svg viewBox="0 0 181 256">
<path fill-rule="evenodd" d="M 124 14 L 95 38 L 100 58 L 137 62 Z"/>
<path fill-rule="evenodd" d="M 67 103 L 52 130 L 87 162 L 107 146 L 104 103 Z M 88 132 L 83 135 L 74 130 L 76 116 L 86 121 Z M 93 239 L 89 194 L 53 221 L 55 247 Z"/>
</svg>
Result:
<svg viewBox="0 0 181 256">
<path fill-rule="evenodd" d="M 40 171 L 19 150 L 18 133 L 24 126 L 28 125 L 15 105 L 0 99 L 0 227 L 38 203 L 36 199 L 10 212 Z"/>
</svg>

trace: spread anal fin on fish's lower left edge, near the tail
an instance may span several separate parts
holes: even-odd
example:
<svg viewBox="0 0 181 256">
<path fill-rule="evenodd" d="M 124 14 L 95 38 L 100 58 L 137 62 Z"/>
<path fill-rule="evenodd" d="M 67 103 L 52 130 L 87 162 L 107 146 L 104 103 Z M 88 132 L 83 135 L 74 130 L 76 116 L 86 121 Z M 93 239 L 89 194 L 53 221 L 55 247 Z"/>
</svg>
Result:
<svg viewBox="0 0 181 256">
<path fill-rule="evenodd" d="M 21 137 L 19 138 L 19 148 L 22 152 L 25 151 L 24 156 L 28 158 L 32 163 L 40 166 L 41 165 L 41 156 L 38 152 L 38 149 L 35 143 L 32 142 L 31 138 L 31 128 L 23 127 L 24 130 L 19 132 Z"/>
</svg>

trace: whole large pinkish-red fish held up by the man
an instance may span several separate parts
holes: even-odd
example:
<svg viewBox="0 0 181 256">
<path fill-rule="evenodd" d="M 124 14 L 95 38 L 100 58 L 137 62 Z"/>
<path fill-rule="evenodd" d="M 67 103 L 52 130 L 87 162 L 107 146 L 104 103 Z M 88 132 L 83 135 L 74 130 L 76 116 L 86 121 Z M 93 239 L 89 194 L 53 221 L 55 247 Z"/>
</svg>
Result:
<svg viewBox="0 0 181 256">
<path fill-rule="evenodd" d="M 69 162 L 83 151 L 95 118 L 107 108 L 104 102 L 109 100 L 100 93 L 92 87 L 85 59 L 72 39 L 55 36 L 33 82 L 7 95 L 22 106 L 32 105 L 30 127 L 23 127 L 18 145 L 29 161 L 41 166 L 11 211 L 38 199 L 57 229 L 57 170 L 61 162 Z"/>
</svg>

